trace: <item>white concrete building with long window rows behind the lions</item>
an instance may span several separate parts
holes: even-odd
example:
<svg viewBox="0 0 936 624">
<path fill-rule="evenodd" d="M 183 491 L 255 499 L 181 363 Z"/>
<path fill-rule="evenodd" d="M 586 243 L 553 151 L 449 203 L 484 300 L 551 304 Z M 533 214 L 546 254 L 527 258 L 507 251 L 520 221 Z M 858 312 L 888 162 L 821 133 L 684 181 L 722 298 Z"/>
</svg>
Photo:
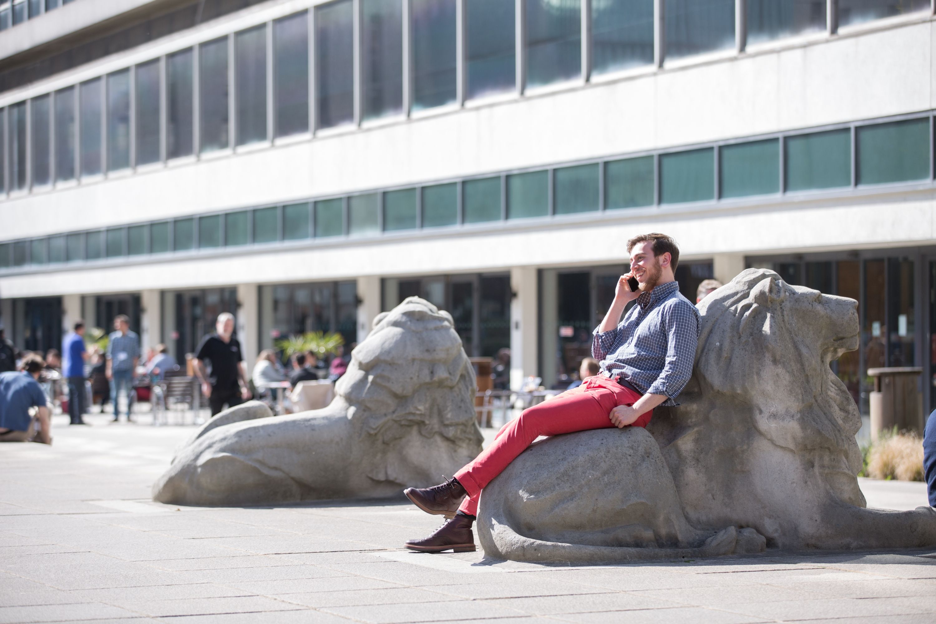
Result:
<svg viewBox="0 0 936 624">
<path fill-rule="evenodd" d="M 14 1 L 15 8 L 19 2 Z M 33 3 L 30 3 L 32 6 Z M 41 5 L 42 3 L 37 3 Z M 60 3 L 48 3 L 58 5 Z M 0 3 L 0 23 L 9 3 Z M 419 294 L 563 383 L 664 231 L 860 301 L 837 363 L 936 372 L 931 0 L 80 0 L 0 32 L 0 319 L 190 352 L 360 340 Z"/>
</svg>

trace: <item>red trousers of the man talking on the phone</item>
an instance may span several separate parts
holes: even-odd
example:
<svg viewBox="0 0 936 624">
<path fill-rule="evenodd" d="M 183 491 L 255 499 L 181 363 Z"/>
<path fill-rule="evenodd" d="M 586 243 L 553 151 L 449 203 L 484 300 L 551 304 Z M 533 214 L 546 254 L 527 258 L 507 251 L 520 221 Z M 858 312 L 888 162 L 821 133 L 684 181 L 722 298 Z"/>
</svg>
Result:
<svg viewBox="0 0 936 624">
<path fill-rule="evenodd" d="M 497 432 L 494 442 L 474 461 L 455 473 L 455 478 L 468 491 L 460 510 L 477 515 L 481 490 L 539 436 L 616 427 L 609 417 L 611 410 L 618 405 L 633 405 L 637 399 L 640 395 L 634 390 L 603 375 L 595 375 L 577 388 L 523 410 L 519 418 Z M 652 410 L 640 414 L 633 427 L 647 427 L 652 414 Z"/>
</svg>

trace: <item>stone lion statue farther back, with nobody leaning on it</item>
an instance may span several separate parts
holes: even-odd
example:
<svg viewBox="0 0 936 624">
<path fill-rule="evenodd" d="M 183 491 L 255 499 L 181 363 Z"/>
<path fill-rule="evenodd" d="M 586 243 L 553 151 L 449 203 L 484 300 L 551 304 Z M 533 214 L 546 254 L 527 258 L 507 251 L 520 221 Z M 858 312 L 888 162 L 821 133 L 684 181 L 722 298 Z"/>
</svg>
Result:
<svg viewBox="0 0 936 624">
<path fill-rule="evenodd" d="M 475 371 L 448 312 L 408 297 L 377 316 L 321 410 L 218 414 L 178 451 L 154 501 L 250 505 L 397 496 L 481 451 Z"/>
</svg>

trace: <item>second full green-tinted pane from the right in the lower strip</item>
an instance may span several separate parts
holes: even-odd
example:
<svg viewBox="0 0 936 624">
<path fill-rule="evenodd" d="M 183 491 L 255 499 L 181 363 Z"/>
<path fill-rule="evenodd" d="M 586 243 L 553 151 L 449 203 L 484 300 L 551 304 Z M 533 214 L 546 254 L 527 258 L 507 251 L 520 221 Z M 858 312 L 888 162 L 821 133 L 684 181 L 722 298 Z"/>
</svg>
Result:
<svg viewBox="0 0 936 624">
<path fill-rule="evenodd" d="M 787 191 L 835 188 L 852 183 L 852 136 L 847 128 L 784 141 Z"/>
</svg>

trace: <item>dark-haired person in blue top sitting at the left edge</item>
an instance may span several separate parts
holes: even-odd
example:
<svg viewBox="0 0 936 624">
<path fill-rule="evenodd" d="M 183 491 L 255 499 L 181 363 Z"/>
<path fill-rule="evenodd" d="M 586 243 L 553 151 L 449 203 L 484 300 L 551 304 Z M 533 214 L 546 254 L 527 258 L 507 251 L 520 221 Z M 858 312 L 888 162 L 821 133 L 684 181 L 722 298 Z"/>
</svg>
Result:
<svg viewBox="0 0 936 624">
<path fill-rule="evenodd" d="M 22 358 L 21 371 L 0 372 L 0 442 L 52 443 L 48 402 L 38 383 L 45 366 L 41 357 L 30 354 Z M 34 407 L 36 416 L 30 416 Z"/>
</svg>

